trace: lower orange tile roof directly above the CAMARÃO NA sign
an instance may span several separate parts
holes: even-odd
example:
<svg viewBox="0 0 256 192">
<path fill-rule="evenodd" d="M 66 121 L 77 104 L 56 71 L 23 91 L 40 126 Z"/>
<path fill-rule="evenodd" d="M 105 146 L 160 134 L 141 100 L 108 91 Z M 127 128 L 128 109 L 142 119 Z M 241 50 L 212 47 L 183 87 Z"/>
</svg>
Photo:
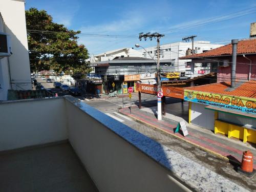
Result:
<svg viewBox="0 0 256 192">
<path fill-rule="evenodd" d="M 189 87 L 184 89 L 238 97 L 256 98 L 256 80 L 246 81 L 233 91 L 225 91 L 228 87 L 230 87 L 230 82 L 212 83 L 204 86 Z"/>
</svg>

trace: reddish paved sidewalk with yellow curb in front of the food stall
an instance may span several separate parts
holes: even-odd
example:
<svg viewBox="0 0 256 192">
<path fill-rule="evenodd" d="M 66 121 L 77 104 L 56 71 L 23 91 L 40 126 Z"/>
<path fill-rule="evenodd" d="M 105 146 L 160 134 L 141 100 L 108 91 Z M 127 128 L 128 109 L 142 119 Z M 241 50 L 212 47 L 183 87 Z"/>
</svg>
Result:
<svg viewBox="0 0 256 192">
<path fill-rule="evenodd" d="M 138 106 L 132 107 L 132 114 L 130 108 L 123 108 L 119 110 L 119 112 L 122 114 L 153 126 L 156 129 L 180 138 L 188 143 L 194 144 L 202 148 L 204 151 L 215 154 L 231 162 L 240 163 L 242 160 L 243 152 L 250 150 L 253 154 L 253 168 L 256 169 L 256 151 L 253 150 L 252 147 L 247 147 L 242 142 L 239 143 L 240 141 L 232 141 L 231 139 L 226 139 L 222 136 L 215 135 L 210 131 L 207 132 L 208 130 L 205 130 L 201 127 L 194 125 L 191 126 L 190 124 L 187 125 L 189 135 L 186 137 L 180 133 L 174 134 L 174 130 L 178 124 L 177 120 L 165 118 L 163 116 L 162 120 L 158 121 L 154 113 L 147 111 L 148 110 L 139 110 Z"/>
</svg>

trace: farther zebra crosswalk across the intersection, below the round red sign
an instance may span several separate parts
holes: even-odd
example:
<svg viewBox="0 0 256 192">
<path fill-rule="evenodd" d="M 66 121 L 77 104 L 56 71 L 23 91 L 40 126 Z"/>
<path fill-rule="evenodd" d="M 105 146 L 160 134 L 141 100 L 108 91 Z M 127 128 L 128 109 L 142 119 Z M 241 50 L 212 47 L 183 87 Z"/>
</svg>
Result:
<svg viewBox="0 0 256 192">
<path fill-rule="evenodd" d="M 155 101 L 156 98 L 141 98 L 141 101 Z M 117 105 L 117 106 L 135 106 L 135 105 L 138 105 L 138 102 L 139 102 L 139 99 L 138 97 L 134 97 L 134 98 L 111 98 L 111 99 L 108 99 L 106 100 L 108 102 L 111 102 L 113 103 L 114 105 Z M 135 104 L 136 103 L 136 104 Z"/>
</svg>

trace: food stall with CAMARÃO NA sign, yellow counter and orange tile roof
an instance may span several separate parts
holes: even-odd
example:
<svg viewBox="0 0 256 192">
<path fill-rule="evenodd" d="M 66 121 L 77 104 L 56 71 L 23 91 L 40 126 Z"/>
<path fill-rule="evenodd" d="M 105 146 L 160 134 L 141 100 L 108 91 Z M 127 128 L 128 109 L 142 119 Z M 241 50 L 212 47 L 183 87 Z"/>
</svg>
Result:
<svg viewBox="0 0 256 192">
<path fill-rule="evenodd" d="M 228 86 L 223 83 L 185 89 L 189 123 L 228 138 L 256 143 L 256 98 L 248 97 L 255 95 L 254 84 L 247 82 L 233 91 L 226 91 Z"/>
</svg>

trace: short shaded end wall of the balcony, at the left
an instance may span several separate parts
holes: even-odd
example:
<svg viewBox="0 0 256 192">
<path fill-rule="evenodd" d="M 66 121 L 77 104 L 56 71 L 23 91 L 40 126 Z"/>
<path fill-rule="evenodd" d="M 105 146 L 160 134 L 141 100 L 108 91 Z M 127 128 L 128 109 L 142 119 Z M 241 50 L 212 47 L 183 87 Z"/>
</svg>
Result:
<svg viewBox="0 0 256 192">
<path fill-rule="evenodd" d="M 63 99 L 0 103 L 0 151 L 68 139 Z"/>
</svg>

